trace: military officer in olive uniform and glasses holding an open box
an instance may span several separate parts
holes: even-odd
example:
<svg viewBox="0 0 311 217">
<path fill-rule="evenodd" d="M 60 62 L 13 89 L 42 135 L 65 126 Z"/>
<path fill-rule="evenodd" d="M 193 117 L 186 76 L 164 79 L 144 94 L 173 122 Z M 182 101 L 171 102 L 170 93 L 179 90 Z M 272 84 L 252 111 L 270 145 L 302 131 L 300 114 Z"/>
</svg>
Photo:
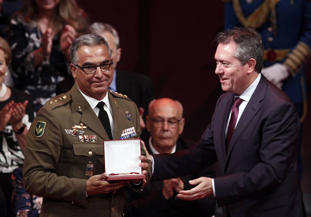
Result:
<svg viewBox="0 0 311 217">
<path fill-rule="evenodd" d="M 32 123 L 23 184 L 30 194 L 44 197 L 40 216 L 122 216 L 123 186 L 129 181 L 105 181 L 103 140 L 139 138 L 138 109 L 125 95 L 107 91 L 113 60 L 103 37 L 78 37 L 70 54 L 76 84 L 48 101 Z M 151 173 L 142 173 L 146 183 Z M 132 181 L 140 190 L 141 181 Z"/>
</svg>

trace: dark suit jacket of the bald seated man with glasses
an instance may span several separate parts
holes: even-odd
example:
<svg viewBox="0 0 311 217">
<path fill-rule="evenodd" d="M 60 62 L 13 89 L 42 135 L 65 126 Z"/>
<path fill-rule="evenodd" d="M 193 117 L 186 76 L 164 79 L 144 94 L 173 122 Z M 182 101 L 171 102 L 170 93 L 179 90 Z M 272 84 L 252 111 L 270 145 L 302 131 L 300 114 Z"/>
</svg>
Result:
<svg viewBox="0 0 311 217">
<path fill-rule="evenodd" d="M 145 142 L 146 148 L 150 154 L 152 151 L 148 145 L 147 140 Z M 176 144 L 176 151 L 185 150 L 194 146 L 193 141 L 178 139 Z M 189 190 L 193 188 L 188 183 L 189 180 L 193 180 L 199 177 L 211 177 L 215 176 L 215 172 L 211 168 L 206 168 L 199 173 L 181 177 L 185 187 Z M 188 217 L 188 216 L 212 216 L 215 212 L 216 202 L 212 197 L 206 197 L 197 201 L 184 201 L 177 198 L 177 192 L 169 200 L 166 200 L 162 194 L 163 181 L 149 182 L 141 192 L 134 192 L 129 187 L 125 188 L 125 207 L 124 215 L 127 217 L 144 216 L 148 213 L 149 217 Z M 204 215 L 203 215 L 204 213 Z"/>
</svg>

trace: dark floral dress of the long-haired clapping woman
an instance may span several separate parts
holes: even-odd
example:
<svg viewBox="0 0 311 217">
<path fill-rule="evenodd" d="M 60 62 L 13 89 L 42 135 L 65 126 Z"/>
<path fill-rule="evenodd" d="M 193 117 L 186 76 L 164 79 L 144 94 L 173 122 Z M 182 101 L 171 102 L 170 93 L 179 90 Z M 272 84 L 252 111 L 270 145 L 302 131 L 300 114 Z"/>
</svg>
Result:
<svg viewBox="0 0 311 217">
<path fill-rule="evenodd" d="M 8 42 L 12 49 L 12 77 L 15 88 L 30 94 L 37 112 L 56 95 L 56 85 L 68 75 L 69 63 L 60 49 L 59 37 L 53 38 L 51 54 L 34 67 L 33 51 L 41 47 L 41 30 L 22 16 L 10 20 Z"/>
</svg>

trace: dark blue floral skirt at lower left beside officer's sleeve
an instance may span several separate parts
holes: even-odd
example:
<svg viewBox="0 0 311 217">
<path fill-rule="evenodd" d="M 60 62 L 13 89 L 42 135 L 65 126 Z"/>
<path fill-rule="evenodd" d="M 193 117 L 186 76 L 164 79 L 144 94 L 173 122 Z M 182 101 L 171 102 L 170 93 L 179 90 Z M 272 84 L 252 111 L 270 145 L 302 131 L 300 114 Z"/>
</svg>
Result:
<svg viewBox="0 0 311 217">
<path fill-rule="evenodd" d="M 14 169 L 12 174 L 12 212 L 11 216 L 39 217 L 43 197 L 30 195 L 22 183 L 23 167 Z"/>
</svg>

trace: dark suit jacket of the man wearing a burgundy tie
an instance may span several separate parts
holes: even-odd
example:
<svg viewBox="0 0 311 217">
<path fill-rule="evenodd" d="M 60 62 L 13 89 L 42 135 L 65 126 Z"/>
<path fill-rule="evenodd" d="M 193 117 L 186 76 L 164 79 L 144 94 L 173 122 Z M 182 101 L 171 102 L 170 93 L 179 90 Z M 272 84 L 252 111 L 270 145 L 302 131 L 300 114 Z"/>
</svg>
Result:
<svg viewBox="0 0 311 217">
<path fill-rule="evenodd" d="M 218 160 L 216 199 L 219 206 L 230 205 L 231 216 L 306 216 L 296 165 L 299 118 L 293 104 L 262 75 L 226 154 L 225 126 L 233 100 L 231 93 L 220 96 L 195 147 L 153 155 L 153 179 L 182 176 Z"/>
</svg>

